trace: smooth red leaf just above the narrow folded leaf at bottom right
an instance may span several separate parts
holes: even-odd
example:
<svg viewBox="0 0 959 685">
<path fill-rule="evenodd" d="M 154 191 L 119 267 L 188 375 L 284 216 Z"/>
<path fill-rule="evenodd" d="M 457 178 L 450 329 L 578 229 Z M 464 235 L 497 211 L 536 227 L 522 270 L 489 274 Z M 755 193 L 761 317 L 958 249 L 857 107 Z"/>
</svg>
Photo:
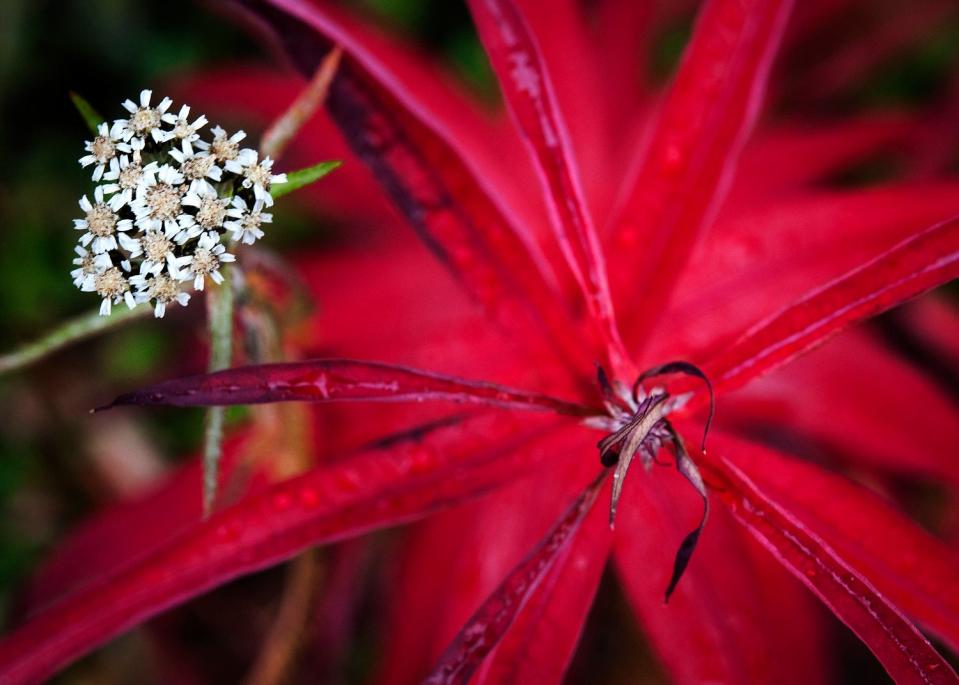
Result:
<svg viewBox="0 0 959 685">
<path fill-rule="evenodd" d="M 749 473 L 919 624 L 959 646 L 959 554 L 888 503 L 823 469 L 722 432 L 714 449 Z"/>
</svg>

